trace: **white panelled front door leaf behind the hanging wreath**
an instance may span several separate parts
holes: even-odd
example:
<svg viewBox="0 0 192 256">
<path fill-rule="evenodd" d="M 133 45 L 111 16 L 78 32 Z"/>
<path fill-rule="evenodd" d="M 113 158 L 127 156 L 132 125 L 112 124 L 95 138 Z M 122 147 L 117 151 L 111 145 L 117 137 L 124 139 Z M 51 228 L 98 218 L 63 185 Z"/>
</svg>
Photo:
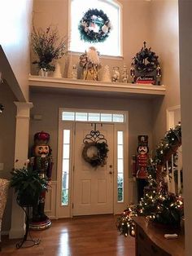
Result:
<svg viewBox="0 0 192 256">
<path fill-rule="evenodd" d="M 97 124 L 96 130 L 107 139 L 107 164 L 92 167 L 82 157 L 83 139 L 94 130 L 89 123 L 76 123 L 73 211 L 76 215 L 113 213 L 113 125 Z"/>
</svg>

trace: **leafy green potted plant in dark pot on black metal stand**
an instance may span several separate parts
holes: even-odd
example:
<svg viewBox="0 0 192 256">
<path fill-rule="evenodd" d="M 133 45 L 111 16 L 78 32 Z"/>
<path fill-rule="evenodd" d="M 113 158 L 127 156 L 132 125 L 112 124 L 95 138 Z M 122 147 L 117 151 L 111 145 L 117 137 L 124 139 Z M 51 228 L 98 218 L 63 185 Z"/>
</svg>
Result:
<svg viewBox="0 0 192 256">
<path fill-rule="evenodd" d="M 17 201 L 20 206 L 33 206 L 37 204 L 43 190 L 47 190 L 48 180 L 42 178 L 32 166 L 11 171 L 11 188 L 17 192 Z"/>
</svg>

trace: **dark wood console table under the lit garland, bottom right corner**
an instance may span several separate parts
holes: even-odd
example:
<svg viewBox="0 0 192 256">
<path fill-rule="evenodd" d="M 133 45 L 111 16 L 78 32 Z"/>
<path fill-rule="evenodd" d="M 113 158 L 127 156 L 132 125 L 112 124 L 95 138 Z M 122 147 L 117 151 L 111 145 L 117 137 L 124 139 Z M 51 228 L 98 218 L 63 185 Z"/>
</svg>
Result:
<svg viewBox="0 0 192 256">
<path fill-rule="evenodd" d="M 184 230 L 163 227 L 147 222 L 145 217 L 134 217 L 136 224 L 136 256 L 185 256 Z M 176 239 L 166 239 L 164 234 L 177 233 Z"/>
</svg>

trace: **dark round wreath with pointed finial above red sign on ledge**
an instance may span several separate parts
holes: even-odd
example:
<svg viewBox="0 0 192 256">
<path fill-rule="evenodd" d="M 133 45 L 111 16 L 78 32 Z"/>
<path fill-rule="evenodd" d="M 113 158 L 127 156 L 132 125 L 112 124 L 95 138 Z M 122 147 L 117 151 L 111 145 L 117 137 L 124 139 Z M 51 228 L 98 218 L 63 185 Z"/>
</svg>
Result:
<svg viewBox="0 0 192 256">
<path fill-rule="evenodd" d="M 134 68 L 138 73 L 151 73 L 159 65 L 158 56 L 154 51 L 151 51 L 151 47 L 146 48 L 146 42 L 143 42 L 143 47 L 141 51 L 137 52 L 136 56 L 133 58 Z"/>
</svg>

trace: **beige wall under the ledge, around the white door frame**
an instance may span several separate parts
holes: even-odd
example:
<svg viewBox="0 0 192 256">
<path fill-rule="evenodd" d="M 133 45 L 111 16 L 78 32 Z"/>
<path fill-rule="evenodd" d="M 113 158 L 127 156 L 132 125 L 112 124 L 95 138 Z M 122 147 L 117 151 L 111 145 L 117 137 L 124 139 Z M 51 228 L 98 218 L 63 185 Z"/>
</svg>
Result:
<svg viewBox="0 0 192 256">
<path fill-rule="evenodd" d="M 56 179 L 57 168 L 57 144 L 58 144 L 58 118 L 59 108 L 92 108 L 108 110 L 129 111 L 129 174 L 131 175 L 130 160 L 137 150 L 137 135 L 149 135 L 151 148 L 151 120 L 152 108 L 149 100 L 143 99 L 118 99 L 111 97 L 91 97 L 77 95 L 62 95 L 31 93 L 30 101 L 33 102 L 30 123 L 30 145 L 33 145 L 33 135 L 41 130 L 50 133 L 50 146 L 53 149 L 55 165 L 53 168 L 53 180 Z M 41 121 L 33 120 L 33 115 L 42 115 Z"/>
</svg>

